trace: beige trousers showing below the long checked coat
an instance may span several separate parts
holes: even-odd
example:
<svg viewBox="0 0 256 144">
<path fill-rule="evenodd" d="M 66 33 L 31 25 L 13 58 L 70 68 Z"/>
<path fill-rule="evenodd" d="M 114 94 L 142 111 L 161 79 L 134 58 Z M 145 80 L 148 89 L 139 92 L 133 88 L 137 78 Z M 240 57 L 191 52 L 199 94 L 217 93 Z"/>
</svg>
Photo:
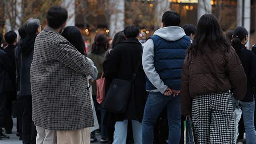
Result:
<svg viewBox="0 0 256 144">
<path fill-rule="evenodd" d="M 36 127 L 37 144 L 90 144 L 90 127 L 82 130 L 55 131 Z"/>
</svg>

